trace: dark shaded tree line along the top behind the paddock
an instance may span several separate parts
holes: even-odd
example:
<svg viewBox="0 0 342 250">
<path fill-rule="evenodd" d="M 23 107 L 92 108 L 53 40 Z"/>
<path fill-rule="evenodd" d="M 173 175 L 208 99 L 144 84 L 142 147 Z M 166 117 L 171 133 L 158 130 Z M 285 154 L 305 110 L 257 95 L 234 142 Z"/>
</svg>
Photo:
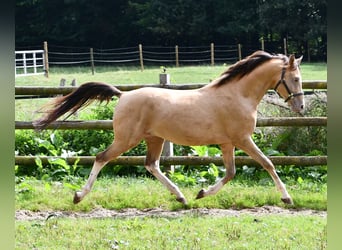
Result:
<svg viewBox="0 0 342 250">
<path fill-rule="evenodd" d="M 259 45 L 326 60 L 326 0 L 17 0 L 16 48 Z M 270 51 L 273 52 L 273 51 Z"/>
</svg>

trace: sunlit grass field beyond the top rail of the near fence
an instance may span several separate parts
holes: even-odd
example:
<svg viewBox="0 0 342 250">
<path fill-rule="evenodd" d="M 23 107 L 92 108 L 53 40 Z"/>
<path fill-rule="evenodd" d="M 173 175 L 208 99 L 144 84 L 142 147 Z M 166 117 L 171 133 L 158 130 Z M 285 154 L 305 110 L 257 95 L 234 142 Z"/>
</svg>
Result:
<svg viewBox="0 0 342 250">
<path fill-rule="evenodd" d="M 229 65 L 218 66 L 187 66 L 170 67 L 167 73 L 170 74 L 171 84 L 185 83 L 209 83 L 219 77 Z M 326 63 L 303 63 L 301 65 L 303 80 L 326 80 Z M 94 75 L 87 67 L 70 67 L 50 69 L 49 78 L 43 75 L 17 77 L 16 86 L 59 86 L 61 78 L 66 79 L 67 86 L 76 79 L 77 84 L 88 81 L 103 81 L 114 85 L 122 84 L 159 84 L 159 67 L 147 67 L 141 71 L 137 67 L 99 67 Z"/>
</svg>

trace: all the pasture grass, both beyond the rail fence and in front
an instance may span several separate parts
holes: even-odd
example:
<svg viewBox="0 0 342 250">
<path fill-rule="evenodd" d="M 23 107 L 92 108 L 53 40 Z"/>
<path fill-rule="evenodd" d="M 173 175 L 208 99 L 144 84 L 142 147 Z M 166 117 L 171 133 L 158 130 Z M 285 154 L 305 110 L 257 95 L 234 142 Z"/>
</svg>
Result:
<svg viewBox="0 0 342 250">
<path fill-rule="evenodd" d="M 216 78 L 228 66 L 168 68 L 171 83 L 205 83 Z M 303 80 L 326 80 L 326 64 L 301 66 Z M 91 75 L 88 68 L 52 68 L 50 77 L 16 78 L 16 86 L 58 86 L 60 79 L 70 85 L 86 81 L 111 84 L 157 84 L 160 68 L 98 68 Z M 34 111 L 47 100 L 16 100 L 16 120 L 32 120 Z M 263 107 L 264 108 L 264 107 Z M 87 111 L 82 111 L 86 112 Z M 108 167 L 109 168 L 109 167 Z M 72 204 L 72 193 L 83 177 L 65 176 L 62 180 L 36 180 L 16 177 L 16 210 L 90 212 L 97 208 L 127 208 L 183 211 L 197 208 L 245 209 L 263 205 L 284 209 L 326 211 L 327 185 L 320 179 L 306 178 L 297 169 L 285 168 L 281 178 L 294 199 L 293 206 L 283 205 L 272 180 L 260 174 L 253 179 L 248 168 L 240 172 L 216 196 L 195 200 L 201 188 L 181 186 L 189 204 L 174 201 L 161 185 L 151 178 L 99 178 L 94 190 L 79 205 Z M 250 170 L 250 169 L 249 169 Z M 317 172 L 314 170 L 307 173 Z M 292 178 L 292 176 L 295 176 Z M 174 176 L 177 179 L 177 176 Z M 185 176 L 184 178 L 190 178 Z M 38 178 L 39 179 L 39 178 Z M 52 216 L 46 220 L 16 221 L 16 249 L 325 249 L 326 217 L 321 215 L 250 215 L 186 216 L 143 218 L 71 219 Z M 77 229 L 76 225 L 79 227 Z M 184 226 L 186 225 L 186 226 Z M 267 240 L 265 240 L 267 239 Z"/>
</svg>

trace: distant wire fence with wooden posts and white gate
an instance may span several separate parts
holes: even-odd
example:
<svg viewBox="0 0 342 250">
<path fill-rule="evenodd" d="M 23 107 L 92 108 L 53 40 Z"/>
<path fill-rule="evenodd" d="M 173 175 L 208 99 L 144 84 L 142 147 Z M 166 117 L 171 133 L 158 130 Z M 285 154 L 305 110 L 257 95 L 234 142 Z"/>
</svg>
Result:
<svg viewBox="0 0 342 250">
<path fill-rule="evenodd" d="M 40 47 L 40 46 L 39 46 Z M 41 48 L 41 47 L 40 47 Z M 274 46 L 260 40 L 259 46 L 244 47 L 243 44 L 207 46 L 143 46 L 98 49 L 85 47 L 65 47 L 49 45 L 45 41 L 43 50 L 16 51 L 16 76 L 29 74 L 49 75 L 49 66 L 89 66 L 95 73 L 95 66 L 119 65 L 139 66 L 144 70 L 144 65 L 181 65 L 235 63 L 256 50 L 268 50 L 272 53 L 287 54 L 288 44 L 283 41 Z M 40 57 L 36 57 L 40 55 Z M 20 57 L 20 55 L 23 55 Z M 32 56 L 30 56 L 32 55 Z M 32 70 L 29 70 L 32 68 Z"/>
</svg>

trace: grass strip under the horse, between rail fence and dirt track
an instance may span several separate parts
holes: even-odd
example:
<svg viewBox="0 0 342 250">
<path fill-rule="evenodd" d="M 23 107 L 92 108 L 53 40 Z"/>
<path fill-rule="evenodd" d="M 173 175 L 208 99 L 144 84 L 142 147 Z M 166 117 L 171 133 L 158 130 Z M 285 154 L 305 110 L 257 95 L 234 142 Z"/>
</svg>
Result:
<svg viewBox="0 0 342 250">
<path fill-rule="evenodd" d="M 71 185 L 72 184 L 72 185 Z M 274 184 L 248 183 L 234 179 L 214 196 L 196 200 L 201 186 L 181 187 L 188 200 L 185 207 L 175 200 L 162 184 L 151 178 L 98 178 L 93 190 L 77 205 L 72 203 L 75 189 L 83 186 L 84 180 L 65 182 L 42 182 L 34 179 L 16 185 L 16 210 L 32 211 L 91 211 L 100 206 L 105 209 L 123 208 L 148 209 L 162 207 L 167 210 L 189 208 L 252 208 L 274 205 L 284 208 L 327 209 L 327 185 L 304 182 L 288 185 L 288 191 L 294 200 L 294 206 L 280 201 L 280 193 Z M 206 188 L 206 186 L 205 186 Z"/>
</svg>

